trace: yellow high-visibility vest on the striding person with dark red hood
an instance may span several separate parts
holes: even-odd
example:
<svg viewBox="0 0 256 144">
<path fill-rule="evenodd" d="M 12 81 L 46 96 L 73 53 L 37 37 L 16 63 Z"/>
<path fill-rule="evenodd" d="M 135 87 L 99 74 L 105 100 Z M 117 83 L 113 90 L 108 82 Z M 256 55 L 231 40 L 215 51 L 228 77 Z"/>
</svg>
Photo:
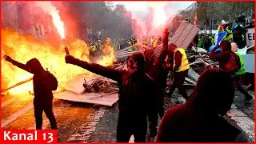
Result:
<svg viewBox="0 0 256 144">
<path fill-rule="evenodd" d="M 181 66 L 179 66 L 178 70 L 176 70 L 175 72 L 181 72 L 181 71 L 190 69 L 190 63 L 189 63 L 188 59 L 186 58 L 186 52 L 184 49 L 177 48 L 176 50 L 174 50 L 174 58 L 175 58 L 175 53 L 177 50 L 182 54 L 182 64 L 181 64 Z M 174 59 L 174 66 L 175 66 L 175 59 Z"/>
</svg>

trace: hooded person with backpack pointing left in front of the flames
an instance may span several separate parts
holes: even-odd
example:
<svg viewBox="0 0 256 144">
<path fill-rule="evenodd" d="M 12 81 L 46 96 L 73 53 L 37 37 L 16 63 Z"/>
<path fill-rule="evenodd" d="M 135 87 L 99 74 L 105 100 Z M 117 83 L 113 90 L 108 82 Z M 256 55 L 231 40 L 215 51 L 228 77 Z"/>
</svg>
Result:
<svg viewBox="0 0 256 144">
<path fill-rule="evenodd" d="M 11 62 L 14 66 L 27 72 L 34 74 L 34 118 L 36 129 L 42 130 L 42 112 L 46 113 L 46 117 L 50 121 L 51 129 L 57 130 L 56 119 L 53 112 L 53 93 L 52 90 L 57 90 L 58 81 L 53 74 L 43 69 L 37 58 L 32 58 L 26 65 L 15 61 L 5 55 L 6 61 Z"/>
</svg>

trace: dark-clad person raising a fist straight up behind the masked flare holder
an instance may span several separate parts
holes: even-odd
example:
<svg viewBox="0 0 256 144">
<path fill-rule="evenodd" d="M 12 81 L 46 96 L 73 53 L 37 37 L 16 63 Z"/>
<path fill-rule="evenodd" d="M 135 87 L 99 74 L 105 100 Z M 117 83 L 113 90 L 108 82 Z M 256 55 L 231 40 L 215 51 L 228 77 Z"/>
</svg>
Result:
<svg viewBox="0 0 256 144">
<path fill-rule="evenodd" d="M 145 50 L 144 54 L 146 56 L 146 65 L 145 70 L 146 74 L 150 75 L 150 78 L 154 79 L 154 87 L 156 88 L 156 94 L 158 98 L 158 114 L 162 119 L 164 115 L 164 104 L 163 104 L 163 94 L 164 89 L 166 88 L 166 77 L 168 72 L 164 69 L 164 62 L 168 52 L 168 29 L 164 31 L 164 43 L 161 54 L 158 57 L 155 57 L 154 50 Z M 150 136 L 155 137 L 157 135 L 157 126 L 158 126 L 158 115 L 150 116 Z"/>
</svg>

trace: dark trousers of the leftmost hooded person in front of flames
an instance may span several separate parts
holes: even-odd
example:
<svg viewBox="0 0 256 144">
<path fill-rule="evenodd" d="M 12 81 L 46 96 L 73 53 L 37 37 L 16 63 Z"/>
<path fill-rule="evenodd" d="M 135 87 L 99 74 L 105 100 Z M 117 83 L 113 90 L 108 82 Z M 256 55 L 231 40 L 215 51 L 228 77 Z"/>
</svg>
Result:
<svg viewBox="0 0 256 144">
<path fill-rule="evenodd" d="M 56 118 L 53 112 L 53 101 L 38 101 L 34 100 L 34 118 L 36 123 L 36 129 L 42 130 L 42 112 L 46 113 L 46 117 L 50 121 L 50 127 L 53 130 L 57 130 Z"/>
</svg>

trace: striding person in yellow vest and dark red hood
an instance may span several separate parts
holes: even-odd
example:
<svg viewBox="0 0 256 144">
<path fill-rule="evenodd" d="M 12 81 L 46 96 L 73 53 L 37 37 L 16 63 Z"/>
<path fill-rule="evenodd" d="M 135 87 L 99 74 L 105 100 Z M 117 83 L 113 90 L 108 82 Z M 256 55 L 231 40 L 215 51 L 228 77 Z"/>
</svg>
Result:
<svg viewBox="0 0 256 144">
<path fill-rule="evenodd" d="M 177 87 L 179 93 L 182 94 L 182 97 L 187 99 L 188 96 L 186 94 L 186 89 L 183 86 L 185 78 L 190 69 L 188 59 L 186 58 L 186 52 L 184 49 L 179 48 L 178 46 L 172 43 L 169 46 L 168 58 L 170 60 L 174 59 L 174 61 L 170 62 L 172 64 L 171 73 L 174 76 L 174 82 L 170 88 L 169 96 L 171 96 L 174 93 L 174 90 Z"/>
</svg>

